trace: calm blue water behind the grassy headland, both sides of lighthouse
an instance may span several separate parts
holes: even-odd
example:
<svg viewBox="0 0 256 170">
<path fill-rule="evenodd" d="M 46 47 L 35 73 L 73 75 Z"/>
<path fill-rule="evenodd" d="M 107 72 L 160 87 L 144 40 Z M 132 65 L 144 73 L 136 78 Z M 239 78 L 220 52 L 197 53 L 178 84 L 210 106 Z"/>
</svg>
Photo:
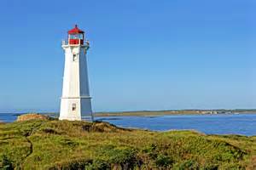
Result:
<svg viewBox="0 0 256 170">
<path fill-rule="evenodd" d="M 0 121 L 13 122 L 16 116 L 0 113 Z M 207 134 L 256 135 L 256 114 L 239 115 L 175 115 L 175 116 L 111 116 L 96 117 L 119 127 L 143 128 L 155 131 L 193 129 Z"/>
</svg>

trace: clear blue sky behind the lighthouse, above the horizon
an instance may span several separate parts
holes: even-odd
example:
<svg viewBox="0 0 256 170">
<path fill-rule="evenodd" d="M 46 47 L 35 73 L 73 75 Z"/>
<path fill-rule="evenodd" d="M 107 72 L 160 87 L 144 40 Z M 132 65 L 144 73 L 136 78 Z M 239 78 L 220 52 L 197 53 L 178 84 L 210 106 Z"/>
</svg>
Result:
<svg viewBox="0 0 256 170">
<path fill-rule="evenodd" d="M 90 41 L 93 111 L 256 108 L 254 0 L 1 0 L 0 112 L 59 111 L 61 40 Z"/>
</svg>

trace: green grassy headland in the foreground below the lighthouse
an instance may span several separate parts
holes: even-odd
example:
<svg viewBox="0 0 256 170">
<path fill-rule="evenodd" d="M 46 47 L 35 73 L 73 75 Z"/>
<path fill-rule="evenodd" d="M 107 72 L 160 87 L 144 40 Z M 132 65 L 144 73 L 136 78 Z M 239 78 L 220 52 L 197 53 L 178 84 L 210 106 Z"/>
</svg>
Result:
<svg viewBox="0 0 256 170">
<path fill-rule="evenodd" d="M 107 122 L 0 124 L 0 169 L 255 169 L 256 137 L 151 132 Z"/>
</svg>

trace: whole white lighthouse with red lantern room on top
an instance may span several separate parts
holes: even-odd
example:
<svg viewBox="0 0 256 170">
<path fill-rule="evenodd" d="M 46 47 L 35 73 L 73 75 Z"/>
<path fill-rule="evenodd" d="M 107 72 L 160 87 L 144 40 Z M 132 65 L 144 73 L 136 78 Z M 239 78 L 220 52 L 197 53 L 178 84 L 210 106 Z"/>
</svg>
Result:
<svg viewBox="0 0 256 170">
<path fill-rule="evenodd" d="M 89 42 L 84 41 L 84 31 L 79 30 L 78 26 L 67 33 L 68 41 L 62 42 L 65 67 L 59 119 L 93 121 L 86 62 Z"/>
</svg>

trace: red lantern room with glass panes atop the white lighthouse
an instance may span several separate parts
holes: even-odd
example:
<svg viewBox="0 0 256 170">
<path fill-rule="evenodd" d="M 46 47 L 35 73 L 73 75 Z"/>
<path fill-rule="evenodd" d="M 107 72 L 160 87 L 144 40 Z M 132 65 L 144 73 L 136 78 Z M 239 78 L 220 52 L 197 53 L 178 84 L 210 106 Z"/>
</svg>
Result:
<svg viewBox="0 0 256 170">
<path fill-rule="evenodd" d="M 76 25 L 72 30 L 67 31 L 69 44 L 84 44 L 84 31 L 79 30 Z"/>
</svg>

